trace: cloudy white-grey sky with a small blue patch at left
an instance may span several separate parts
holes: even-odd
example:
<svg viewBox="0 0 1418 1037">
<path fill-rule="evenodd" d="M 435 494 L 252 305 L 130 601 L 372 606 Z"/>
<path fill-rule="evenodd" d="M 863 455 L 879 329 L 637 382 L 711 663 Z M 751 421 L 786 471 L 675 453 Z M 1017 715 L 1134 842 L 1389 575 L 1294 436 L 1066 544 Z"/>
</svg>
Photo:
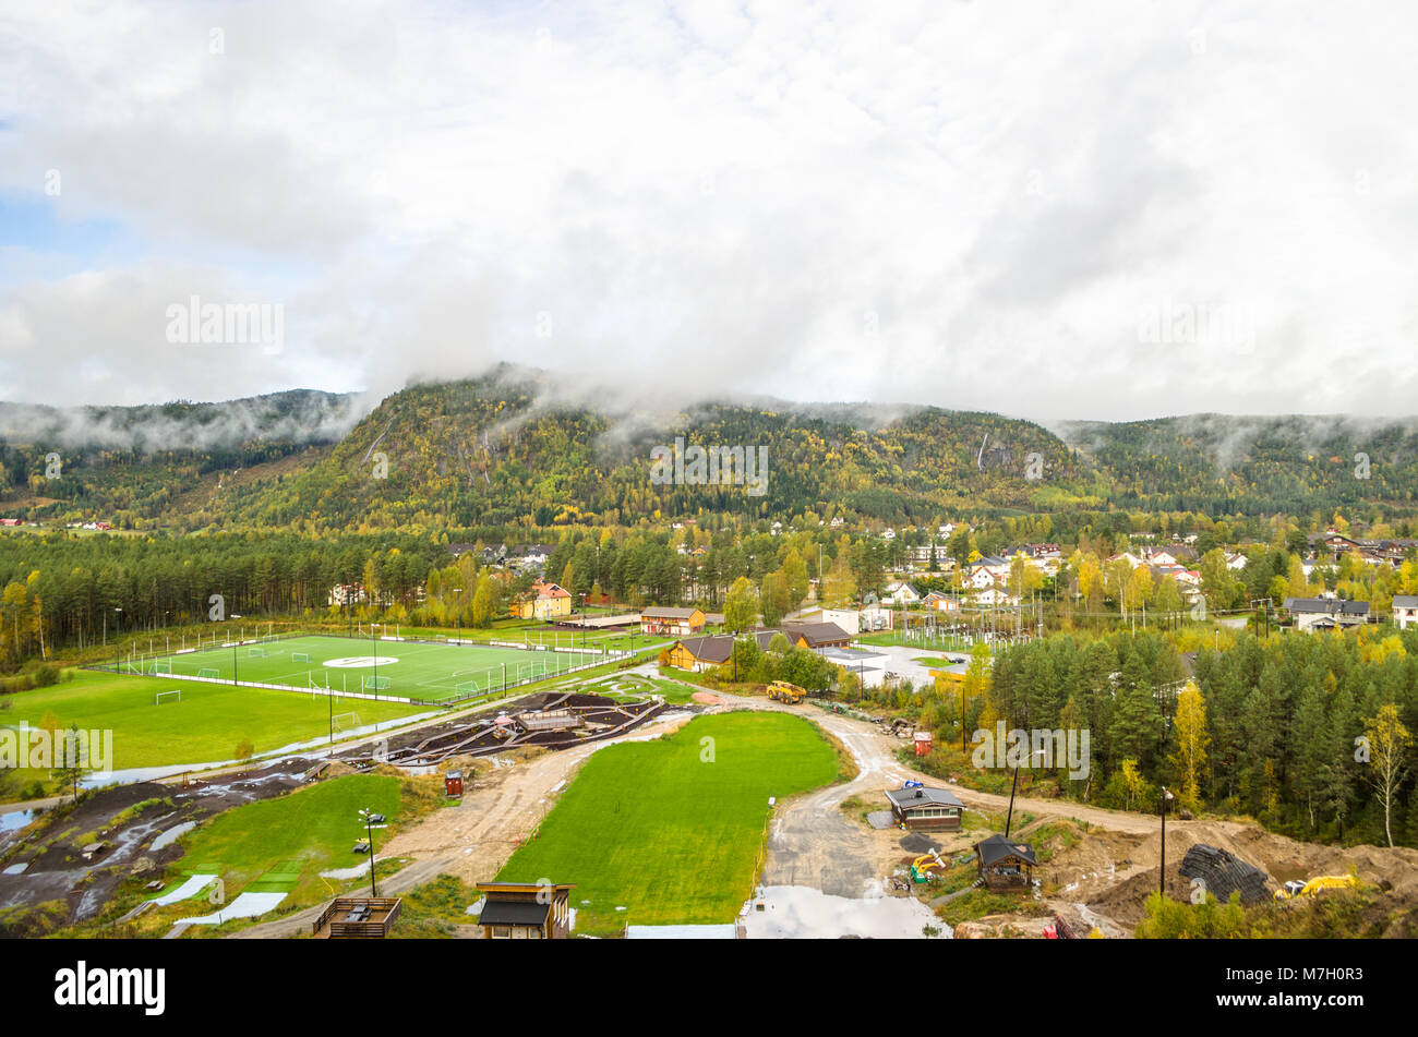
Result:
<svg viewBox="0 0 1418 1037">
<path fill-rule="evenodd" d="M 1404 3 L 0 0 L 0 400 L 515 361 L 628 408 L 1418 414 L 1414 38 Z"/>
</svg>

